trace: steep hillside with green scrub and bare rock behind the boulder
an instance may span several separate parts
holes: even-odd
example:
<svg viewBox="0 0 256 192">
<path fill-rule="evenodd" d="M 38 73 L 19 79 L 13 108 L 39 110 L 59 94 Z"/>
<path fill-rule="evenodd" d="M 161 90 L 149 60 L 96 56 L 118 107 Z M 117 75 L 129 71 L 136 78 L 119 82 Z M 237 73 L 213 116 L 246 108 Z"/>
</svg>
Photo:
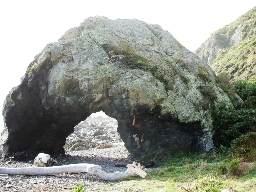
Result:
<svg viewBox="0 0 256 192">
<path fill-rule="evenodd" d="M 233 80 L 256 73 L 256 7 L 214 32 L 195 54 L 216 73 L 226 71 Z"/>
</svg>

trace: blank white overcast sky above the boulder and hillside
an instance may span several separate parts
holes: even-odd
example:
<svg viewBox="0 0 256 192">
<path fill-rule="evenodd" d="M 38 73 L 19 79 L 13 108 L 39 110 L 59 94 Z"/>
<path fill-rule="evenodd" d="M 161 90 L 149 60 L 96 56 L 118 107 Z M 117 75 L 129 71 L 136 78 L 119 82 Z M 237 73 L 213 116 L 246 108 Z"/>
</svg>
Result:
<svg viewBox="0 0 256 192">
<path fill-rule="evenodd" d="M 255 0 L 8 0 L 0 2 L 0 108 L 47 43 L 90 16 L 159 24 L 193 51 L 212 32 L 256 6 Z M 0 115 L 0 130 L 3 126 Z"/>
</svg>

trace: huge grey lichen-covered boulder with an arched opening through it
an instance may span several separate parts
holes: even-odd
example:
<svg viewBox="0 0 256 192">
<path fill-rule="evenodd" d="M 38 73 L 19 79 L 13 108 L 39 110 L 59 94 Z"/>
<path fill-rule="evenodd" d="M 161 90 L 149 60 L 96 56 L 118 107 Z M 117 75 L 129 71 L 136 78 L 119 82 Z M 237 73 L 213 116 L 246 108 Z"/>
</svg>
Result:
<svg viewBox="0 0 256 192">
<path fill-rule="evenodd" d="M 201 67 L 208 81 L 197 76 Z M 117 131 L 134 156 L 164 146 L 208 151 L 212 118 L 201 105 L 200 86 L 214 77 L 210 66 L 159 25 L 90 17 L 49 43 L 7 95 L 1 150 L 64 153 L 74 127 L 102 110 L 117 120 Z M 213 88 L 215 105 L 232 105 L 220 88 Z M 131 134 L 133 114 L 145 133 L 142 149 Z"/>
</svg>

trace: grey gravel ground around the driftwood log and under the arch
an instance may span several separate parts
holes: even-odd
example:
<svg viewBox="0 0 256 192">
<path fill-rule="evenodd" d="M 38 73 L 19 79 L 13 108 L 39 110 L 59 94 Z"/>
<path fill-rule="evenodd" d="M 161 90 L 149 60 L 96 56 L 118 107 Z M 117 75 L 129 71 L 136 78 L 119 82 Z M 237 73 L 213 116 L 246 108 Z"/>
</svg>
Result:
<svg viewBox="0 0 256 192">
<path fill-rule="evenodd" d="M 66 156 L 52 157 L 58 161 L 59 165 L 68 165 L 75 163 L 91 163 L 100 165 L 102 170 L 111 173 L 116 171 L 125 171 L 126 168 L 114 167 L 117 162 L 129 162 L 127 156 L 129 152 L 123 145 L 123 142 L 114 143 L 114 146 L 106 149 L 91 148 L 84 151 L 67 152 Z M 1 167 L 29 167 L 34 166 L 31 161 L 8 161 L 0 162 Z M 154 170 L 157 168 L 149 168 Z M 46 176 L 25 176 L 25 175 L 1 175 L 0 191 L 18 191 L 18 192 L 70 192 L 74 185 L 82 182 L 85 191 L 97 191 L 100 185 L 110 183 L 104 181 L 98 176 L 86 173 L 79 174 L 55 174 Z"/>
</svg>

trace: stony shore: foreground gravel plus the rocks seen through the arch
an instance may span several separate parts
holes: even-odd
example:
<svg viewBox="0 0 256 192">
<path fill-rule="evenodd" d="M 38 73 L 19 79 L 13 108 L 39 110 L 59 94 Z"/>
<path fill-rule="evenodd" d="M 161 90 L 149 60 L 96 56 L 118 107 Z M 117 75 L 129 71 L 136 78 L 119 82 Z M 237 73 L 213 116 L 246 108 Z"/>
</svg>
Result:
<svg viewBox="0 0 256 192">
<path fill-rule="evenodd" d="M 66 155 L 52 156 L 59 165 L 68 165 L 75 163 L 90 163 L 100 165 L 102 170 L 108 173 L 116 171 L 125 171 L 126 168 L 114 167 L 118 162 L 131 162 L 129 158 L 130 153 L 124 147 L 124 143 L 117 139 L 97 139 L 91 133 L 97 129 L 102 130 L 101 135 L 106 135 L 106 138 L 115 138 L 117 122 L 110 117 L 105 118 L 87 118 L 75 127 L 74 133 L 67 138 L 67 143 L 72 143 L 78 139 L 85 142 L 88 146 L 86 150 L 68 150 Z M 117 138 L 117 137 L 116 137 Z M 91 140 L 90 142 L 87 142 Z M 90 146 L 90 143 L 94 143 Z M 102 143 L 111 144 L 110 148 L 99 148 Z M 71 146 L 72 148 L 72 146 Z M 11 158 L 4 159 L 0 162 L 1 167 L 29 167 L 34 166 L 33 160 L 17 161 Z M 154 170 L 157 168 L 150 168 Z M 45 176 L 27 176 L 27 175 L 1 175 L 0 174 L 0 191 L 18 191 L 18 192 L 71 192 L 73 186 L 83 183 L 85 191 L 98 191 L 98 188 L 104 184 L 110 183 L 104 181 L 96 175 L 87 173 L 79 174 L 55 174 Z M 121 190 L 121 189 L 120 189 Z M 122 189 L 123 190 L 123 189 Z"/>
</svg>

